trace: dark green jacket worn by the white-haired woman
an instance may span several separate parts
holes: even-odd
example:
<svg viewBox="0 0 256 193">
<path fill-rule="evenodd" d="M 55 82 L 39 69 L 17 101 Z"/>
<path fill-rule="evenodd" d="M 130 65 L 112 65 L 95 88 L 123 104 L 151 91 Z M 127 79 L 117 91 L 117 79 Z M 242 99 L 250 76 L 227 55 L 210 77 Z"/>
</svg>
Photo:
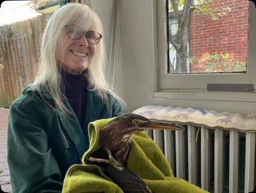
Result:
<svg viewBox="0 0 256 193">
<path fill-rule="evenodd" d="M 14 193 L 61 192 L 66 171 L 72 164 L 81 163 L 89 140 L 72 114 L 45 107 L 27 87 L 10 107 L 8 125 L 8 165 Z M 87 90 L 85 128 L 97 119 L 118 116 L 120 104 L 112 97 L 108 105 L 95 91 Z M 47 93 L 44 98 L 52 102 Z"/>
</svg>

